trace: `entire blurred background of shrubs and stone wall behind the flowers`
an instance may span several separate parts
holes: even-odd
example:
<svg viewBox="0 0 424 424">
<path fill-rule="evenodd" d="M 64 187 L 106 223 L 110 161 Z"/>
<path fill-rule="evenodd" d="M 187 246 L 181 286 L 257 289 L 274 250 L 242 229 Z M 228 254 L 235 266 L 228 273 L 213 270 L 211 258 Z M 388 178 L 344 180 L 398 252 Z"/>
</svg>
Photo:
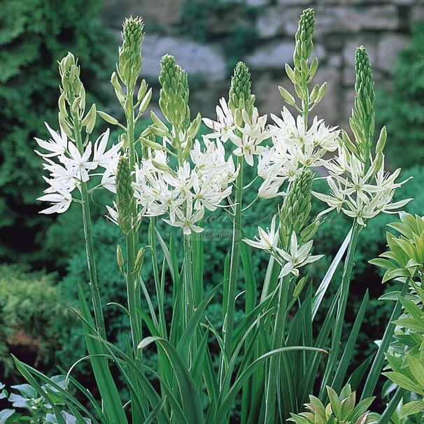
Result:
<svg viewBox="0 0 424 424">
<path fill-rule="evenodd" d="M 302 3 L 302 6 L 299 6 Z M 348 4 L 346 4 L 348 3 Z M 419 3 L 419 2 L 418 2 Z M 411 213 L 424 214 L 424 19 L 423 6 L 407 1 L 338 0 L 1 0 L 0 10 L 0 376 L 17 375 L 10 353 L 55 373 L 54 364 L 69 367 L 84 355 L 78 322 L 67 306 L 76 306 L 76 286 L 87 279 L 78 205 L 53 217 L 38 215 L 36 197 L 43 190 L 41 161 L 34 154 L 34 136 L 47 137 L 43 121 L 57 128 L 57 60 L 71 50 L 79 57 L 88 102 L 118 113 L 108 79 L 117 57 L 119 30 L 127 15 L 143 15 L 148 35 L 143 47 L 143 76 L 157 87 L 160 57 L 165 52 L 190 75 L 192 111 L 213 115 L 225 95 L 232 67 L 246 60 L 253 73 L 253 91 L 262 113 L 282 107 L 276 86 L 285 83 L 283 63 L 290 62 L 292 38 L 303 5 L 316 8 L 316 54 L 329 90 L 318 113 L 333 125 L 344 125 L 353 100 L 353 51 L 364 43 L 374 63 L 378 89 L 378 126 L 388 127 L 388 167 L 403 167 L 414 176 L 398 197 L 414 197 Z M 153 98 L 156 109 L 158 90 Z M 146 122 L 141 122 L 146 125 Z M 317 181 L 317 185 L 324 185 Z M 111 202 L 96 195 L 94 205 Z M 321 208 L 315 203 L 315 211 Z M 276 202 L 262 202 L 247 220 L 255 231 Z M 115 266 L 117 227 L 94 206 L 99 280 L 104 302 L 123 302 L 125 286 Z M 267 218 L 264 218 L 267 217 Z M 371 292 L 372 305 L 358 346 L 358 361 L 381 337 L 392 305 L 378 302 L 383 292 L 378 271 L 367 264 L 385 245 L 387 215 L 369 222 L 356 257 L 355 281 L 348 316 L 353 319 L 362 295 Z M 213 222 L 213 231 L 229 229 Z M 313 269 L 316 284 L 346 236 L 348 221 L 333 216 L 316 236 L 316 251 L 325 260 Z M 220 278 L 229 239 L 208 243 L 205 281 Z M 264 256 L 253 253 L 258 281 Z M 149 264 L 143 270 L 149 281 Z M 334 278 L 337 285 L 340 275 Z M 242 281 L 240 281 L 242 283 Z M 209 310 L 219 323 L 219 302 Z M 108 336 L 124 343 L 127 320 L 113 307 L 106 309 Z M 153 358 L 151 358 L 153 359 Z M 79 370 L 84 374 L 84 369 Z"/>
</svg>

